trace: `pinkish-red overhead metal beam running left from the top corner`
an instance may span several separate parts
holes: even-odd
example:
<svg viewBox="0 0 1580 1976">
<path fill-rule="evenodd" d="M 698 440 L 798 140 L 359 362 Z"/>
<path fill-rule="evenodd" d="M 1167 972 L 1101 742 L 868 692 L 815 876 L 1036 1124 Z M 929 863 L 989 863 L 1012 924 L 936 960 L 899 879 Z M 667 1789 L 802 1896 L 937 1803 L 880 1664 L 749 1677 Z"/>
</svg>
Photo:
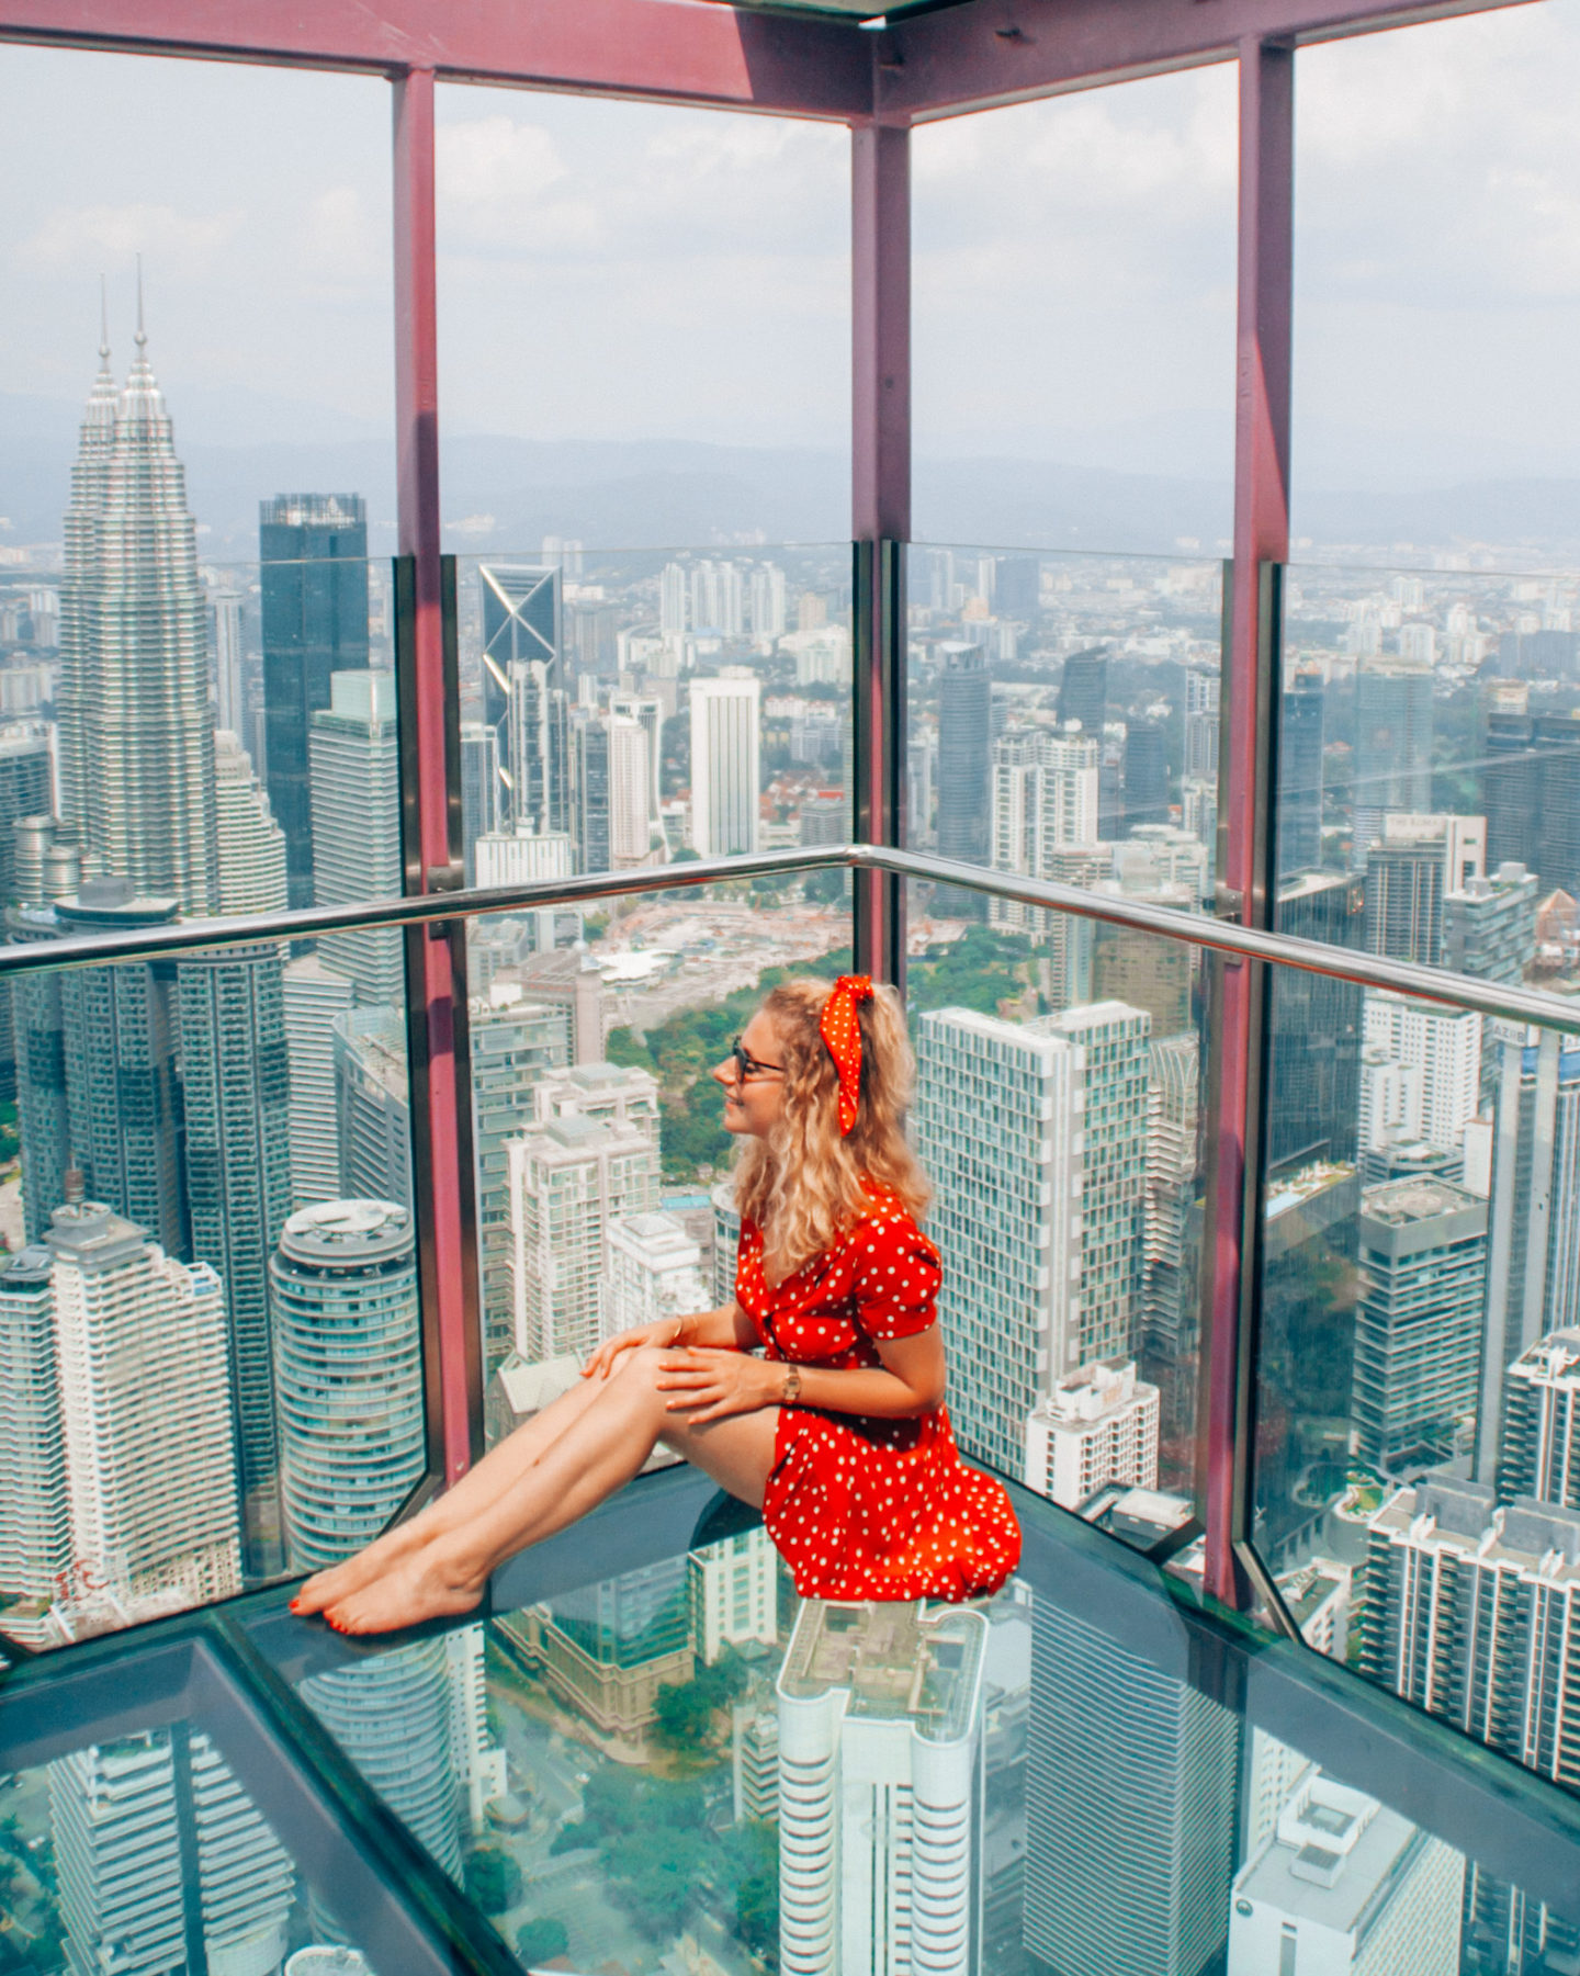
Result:
<svg viewBox="0 0 1580 1976">
<path fill-rule="evenodd" d="M 0 0 L 0 40 L 713 103 L 871 111 L 871 36 L 699 0 Z"/>
</svg>

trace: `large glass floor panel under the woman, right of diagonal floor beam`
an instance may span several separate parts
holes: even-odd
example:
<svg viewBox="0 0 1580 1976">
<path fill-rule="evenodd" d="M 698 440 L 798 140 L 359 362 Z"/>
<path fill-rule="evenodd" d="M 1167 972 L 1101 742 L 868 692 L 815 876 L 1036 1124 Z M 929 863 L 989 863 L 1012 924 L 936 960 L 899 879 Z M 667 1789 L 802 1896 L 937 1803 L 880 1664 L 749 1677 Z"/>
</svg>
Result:
<svg viewBox="0 0 1580 1976">
<path fill-rule="evenodd" d="M 841 1605 L 798 1601 L 760 1529 L 592 1577 L 642 1490 L 531 1603 L 389 1650 L 320 1636 L 336 1666 L 302 1684 L 523 1966 L 1570 1966 L 1580 1915 L 1511 1883 L 1489 1786 L 1467 1798 L 1408 1723 L 1408 1761 L 1357 1782 L 1357 1723 L 1298 1664 L 1199 1686 L 1224 1642 L 1197 1654 L 1195 1622 L 1047 1506 L 1023 1502 L 1037 1563 L 991 1603 Z M 429 1769 L 438 1810 L 415 1802 Z"/>
</svg>

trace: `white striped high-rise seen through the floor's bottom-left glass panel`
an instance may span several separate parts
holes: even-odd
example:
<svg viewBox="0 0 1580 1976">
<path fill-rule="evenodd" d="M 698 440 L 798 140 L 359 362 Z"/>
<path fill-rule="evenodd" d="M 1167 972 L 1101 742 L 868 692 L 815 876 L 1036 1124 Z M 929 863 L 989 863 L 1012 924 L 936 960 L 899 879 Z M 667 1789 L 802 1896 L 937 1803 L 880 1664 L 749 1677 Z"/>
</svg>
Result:
<svg viewBox="0 0 1580 1976">
<path fill-rule="evenodd" d="M 276 1970 L 294 1871 L 207 1735 L 178 1723 L 49 1765 L 69 1970 Z"/>
</svg>

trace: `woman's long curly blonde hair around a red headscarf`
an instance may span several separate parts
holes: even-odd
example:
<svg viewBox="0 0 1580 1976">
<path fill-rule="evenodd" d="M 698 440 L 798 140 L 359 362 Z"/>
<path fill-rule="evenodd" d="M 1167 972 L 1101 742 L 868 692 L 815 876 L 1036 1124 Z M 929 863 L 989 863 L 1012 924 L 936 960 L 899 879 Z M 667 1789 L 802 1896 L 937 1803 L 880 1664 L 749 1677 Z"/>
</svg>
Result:
<svg viewBox="0 0 1580 1976">
<path fill-rule="evenodd" d="M 735 1205 L 762 1229 L 762 1267 L 782 1282 L 822 1255 L 867 1205 L 863 1182 L 895 1194 L 920 1215 L 932 1194 L 905 1138 L 916 1061 L 905 1006 L 889 986 L 857 1004 L 861 1093 L 855 1124 L 839 1134 L 839 1073 L 818 1033 L 831 984 L 790 980 L 762 998 L 784 1063 L 784 1109 L 768 1138 L 747 1138 L 735 1154 Z"/>
</svg>

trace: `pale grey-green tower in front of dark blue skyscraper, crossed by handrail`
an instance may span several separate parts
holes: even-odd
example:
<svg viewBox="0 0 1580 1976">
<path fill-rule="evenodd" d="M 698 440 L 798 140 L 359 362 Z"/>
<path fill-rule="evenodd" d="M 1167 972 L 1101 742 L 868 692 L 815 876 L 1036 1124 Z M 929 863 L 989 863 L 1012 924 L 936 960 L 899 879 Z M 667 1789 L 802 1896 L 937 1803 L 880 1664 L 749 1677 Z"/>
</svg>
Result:
<svg viewBox="0 0 1580 1976">
<path fill-rule="evenodd" d="M 312 869 L 318 905 L 397 897 L 401 869 L 401 753 L 395 674 L 336 672 L 330 705 L 308 729 Z M 346 974 L 357 1002 L 401 1006 L 405 948 L 399 927 L 326 933 L 324 962 Z"/>
</svg>

